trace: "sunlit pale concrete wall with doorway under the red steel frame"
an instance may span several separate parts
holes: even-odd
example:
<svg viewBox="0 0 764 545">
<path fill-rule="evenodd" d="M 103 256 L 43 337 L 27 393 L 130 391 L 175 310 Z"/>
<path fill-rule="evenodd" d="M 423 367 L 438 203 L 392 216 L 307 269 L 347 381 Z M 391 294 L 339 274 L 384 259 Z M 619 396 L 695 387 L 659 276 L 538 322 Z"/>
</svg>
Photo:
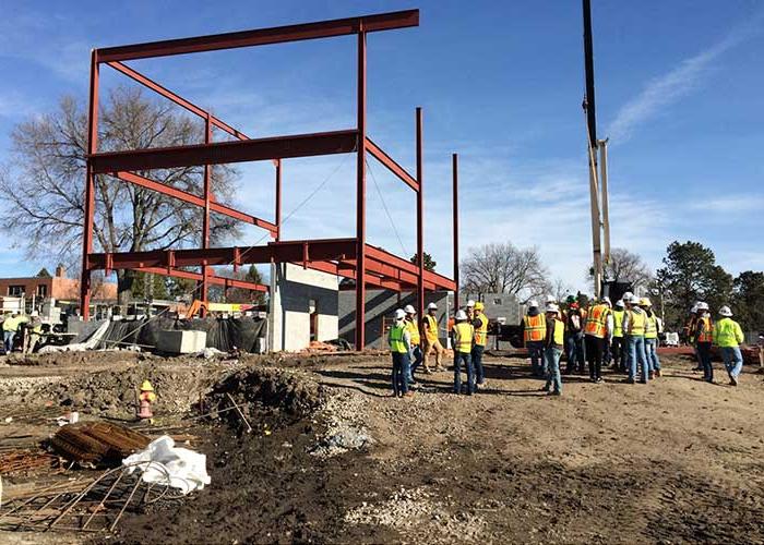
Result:
<svg viewBox="0 0 764 545">
<path fill-rule="evenodd" d="M 310 344 L 311 301 L 318 313 L 318 338 L 339 337 L 337 277 L 293 264 L 271 266 L 268 347 L 273 351 L 302 350 Z"/>
</svg>

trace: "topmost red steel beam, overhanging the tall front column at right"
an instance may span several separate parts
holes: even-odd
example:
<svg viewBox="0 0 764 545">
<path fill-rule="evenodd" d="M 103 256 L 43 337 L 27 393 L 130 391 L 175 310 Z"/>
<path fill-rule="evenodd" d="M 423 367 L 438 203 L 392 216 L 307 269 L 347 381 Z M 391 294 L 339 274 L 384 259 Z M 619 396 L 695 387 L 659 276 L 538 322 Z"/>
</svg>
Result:
<svg viewBox="0 0 764 545">
<path fill-rule="evenodd" d="M 392 31 L 419 25 L 419 10 L 397 11 L 366 15 L 362 17 L 337 19 L 299 25 L 259 28 L 227 34 L 196 36 L 193 38 L 168 39 L 129 46 L 97 49 L 100 62 L 147 59 L 171 55 L 215 51 L 238 47 L 264 46 L 315 38 L 347 36 L 361 32 Z"/>
</svg>

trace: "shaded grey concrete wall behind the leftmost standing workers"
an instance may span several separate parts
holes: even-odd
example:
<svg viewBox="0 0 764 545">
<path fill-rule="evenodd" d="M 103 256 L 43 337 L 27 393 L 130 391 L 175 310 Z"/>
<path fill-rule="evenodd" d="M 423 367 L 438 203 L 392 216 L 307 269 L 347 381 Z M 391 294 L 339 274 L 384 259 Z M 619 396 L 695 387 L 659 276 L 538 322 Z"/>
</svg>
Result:
<svg viewBox="0 0 764 545">
<path fill-rule="evenodd" d="M 430 303 L 438 305 L 439 337 L 443 346 L 447 332 L 445 330 L 447 318 L 446 312 L 450 308 L 446 304 L 447 292 L 427 292 L 425 294 L 425 306 Z M 392 290 L 367 290 L 366 292 L 366 346 L 367 348 L 384 349 L 387 340 L 382 330 L 383 318 L 393 317 L 396 308 L 406 305 L 416 307 L 415 293 L 398 293 Z M 355 290 L 343 290 L 339 292 L 339 337 L 350 344 L 356 342 L 356 292 Z"/>
</svg>

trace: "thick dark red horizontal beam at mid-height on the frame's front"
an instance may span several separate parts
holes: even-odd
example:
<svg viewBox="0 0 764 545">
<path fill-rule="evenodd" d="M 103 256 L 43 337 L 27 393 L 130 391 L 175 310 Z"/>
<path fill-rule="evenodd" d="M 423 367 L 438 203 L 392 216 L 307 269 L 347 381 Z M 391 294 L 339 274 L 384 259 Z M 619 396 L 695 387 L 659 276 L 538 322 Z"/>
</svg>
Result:
<svg viewBox="0 0 764 545">
<path fill-rule="evenodd" d="M 119 170 L 151 170 L 348 154 L 354 152 L 357 145 L 358 131 L 345 130 L 191 146 L 109 152 L 92 154 L 87 161 L 95 173 L 108 173 Z"/>
</svg>

